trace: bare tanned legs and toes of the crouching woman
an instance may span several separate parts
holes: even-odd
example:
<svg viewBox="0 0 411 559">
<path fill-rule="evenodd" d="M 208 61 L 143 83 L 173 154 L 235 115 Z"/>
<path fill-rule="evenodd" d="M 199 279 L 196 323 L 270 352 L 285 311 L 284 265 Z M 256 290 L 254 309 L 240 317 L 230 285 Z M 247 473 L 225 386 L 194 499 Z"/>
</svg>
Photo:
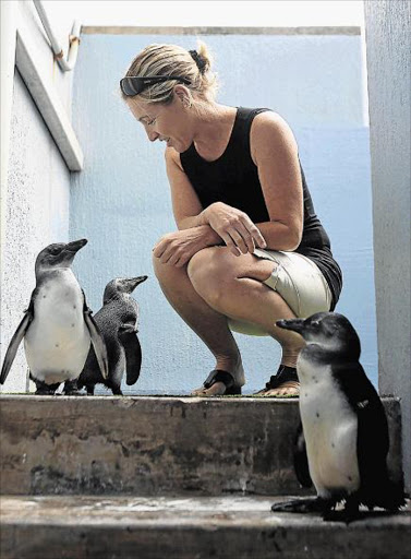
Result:
<svg viewBox="0 0 411 559">
<path fill-rule="evenodd" d="M 253 322 L 282 347 L 283 365 L 295 366 L 303 345 L 301 337 L 278 329 L 279 319 L 294 318 L 286 301 L 263 282 L 276 264 L 252 254 L 232 255 L 225 247 L 210 247 L 195 254 L 185 269 L 161 264 L 155 270 L 166 297 L 217 358 L 217 367 L 233 372 L 241 364 L 239 349 L 227 325 L 227 317 Z M 198 393 L 223 393 L 222 383 Z M 280 388 L 273 395 L 294 395 L 295 389 Z"/>
</svg>

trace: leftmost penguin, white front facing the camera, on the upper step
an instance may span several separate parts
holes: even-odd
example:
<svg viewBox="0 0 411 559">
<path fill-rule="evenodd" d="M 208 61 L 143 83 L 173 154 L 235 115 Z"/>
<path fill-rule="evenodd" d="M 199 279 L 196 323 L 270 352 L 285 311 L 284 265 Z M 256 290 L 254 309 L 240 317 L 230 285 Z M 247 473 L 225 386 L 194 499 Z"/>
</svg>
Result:
<svg viewBox="0 0 411 559">
<path fill-rule="evenodd" d="M 101 374 L 107 377 L 104 338 L 71 270 L 75 254 L 86 243 L 87 239 L 52 243 L 37 255 L 36 287 L 5 353 L 0 384 L 4 383 L 23 338 L 36 394 L 52 395 L 62 382 L 65 382 L 65 394 L 76 394 L 75 381 L 84 367 L 90 342 Z"/>
</svg>

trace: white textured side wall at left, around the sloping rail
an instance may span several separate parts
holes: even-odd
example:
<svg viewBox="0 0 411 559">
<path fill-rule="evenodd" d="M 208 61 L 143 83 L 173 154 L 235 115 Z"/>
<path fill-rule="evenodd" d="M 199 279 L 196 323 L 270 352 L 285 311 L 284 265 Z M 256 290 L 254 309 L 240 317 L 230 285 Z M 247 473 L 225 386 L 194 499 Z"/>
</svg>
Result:
<svg viewBox="0 0 411 559">
<path fill-rule="evenodd" d="M 32 56 L 38 68 L 52 82 L 70 115 L 72 76 L 63 75 L 53 62 L 33 2 L 16 2 L 15 15 L 16 27 L 24 28 L 29 35 L 34 48 Z M 55 16 L 51 23 L 67 49 L 72 21 L 63 22 Z M 17 71 L 13 83 L 10 135 L 7 223 L 1 239 L 1 361 L 35 286 L 37 253 L 50 242 L 69 238 L 70 173 Z M 26 371 L 22 344 L 1 391 L 25 391 Z"/>
</svg>

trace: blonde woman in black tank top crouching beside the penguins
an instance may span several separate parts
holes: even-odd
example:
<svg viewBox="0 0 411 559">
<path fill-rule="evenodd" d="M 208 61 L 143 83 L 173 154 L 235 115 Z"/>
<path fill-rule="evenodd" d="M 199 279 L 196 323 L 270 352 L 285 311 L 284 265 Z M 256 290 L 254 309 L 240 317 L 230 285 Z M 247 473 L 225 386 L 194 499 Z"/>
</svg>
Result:
<svg viewBox="0 0 411 559">
<path fill-rule="evenodd" d="M 341 272 L 290 128 L 269 109 L 218 104 L 204 44 L 198 51 L 150 45 L 120 85 L 148 139 L 167 143 L 178 231 L 155 246 L 154 269 L 169 302 L 216 358 L 193 394 L 241 393 L 234 330 L 281 345 L 278 371 L 259 394 L 298 396 L 303 341 L 275 323 L 333 310 Z"/>
</svg>

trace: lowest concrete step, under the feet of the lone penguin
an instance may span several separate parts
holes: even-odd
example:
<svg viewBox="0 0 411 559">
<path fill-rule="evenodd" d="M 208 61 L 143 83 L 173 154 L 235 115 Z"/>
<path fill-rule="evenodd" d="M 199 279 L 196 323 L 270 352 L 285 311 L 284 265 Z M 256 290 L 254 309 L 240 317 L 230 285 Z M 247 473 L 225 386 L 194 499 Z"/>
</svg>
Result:
<svg viewBox="0 0 411 559">
<path fill-rule="evenodd" d="M 409 559 L 411 508 L 350 524 L 268 497 L 1 499 L 2 559 Z"/>
</svg>

